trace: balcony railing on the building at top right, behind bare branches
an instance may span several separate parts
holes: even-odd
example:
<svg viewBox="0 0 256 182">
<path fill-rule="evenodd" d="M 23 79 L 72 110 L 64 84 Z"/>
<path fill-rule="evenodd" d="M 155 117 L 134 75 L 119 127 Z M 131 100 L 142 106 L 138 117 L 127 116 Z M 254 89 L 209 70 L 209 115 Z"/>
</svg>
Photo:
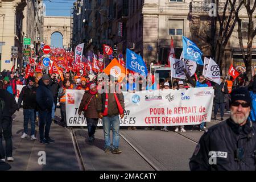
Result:
<svg viewBox="0 0 256 182">
<path fill-rule="evenodd" d="M 212 1 L 192 1 L 190 3 L 190 12 L 191 13 L 208 13 L 212 6 L 209 6 Z M 218 13 L 223 13 L 226 2 L 218 2 Z M 231 7 L 228 5 L 226 7 L 226 12 L 230 12 Z"/>
</svg>

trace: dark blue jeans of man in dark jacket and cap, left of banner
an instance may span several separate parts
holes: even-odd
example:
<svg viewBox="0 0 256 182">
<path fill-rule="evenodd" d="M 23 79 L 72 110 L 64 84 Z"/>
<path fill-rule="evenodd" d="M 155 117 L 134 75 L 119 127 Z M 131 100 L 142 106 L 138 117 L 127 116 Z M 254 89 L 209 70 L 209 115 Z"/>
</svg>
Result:
<svg viewBox="0 0 256 182">
<path fill-rule="evenodd" d="M 51 111 L 39 111 L 39 134 L 40 140 L 49 138 L 49 130 L 52 123 L 52 112 Z M 45 126 L 45 128 L 44 128 Z"/>
</svg>

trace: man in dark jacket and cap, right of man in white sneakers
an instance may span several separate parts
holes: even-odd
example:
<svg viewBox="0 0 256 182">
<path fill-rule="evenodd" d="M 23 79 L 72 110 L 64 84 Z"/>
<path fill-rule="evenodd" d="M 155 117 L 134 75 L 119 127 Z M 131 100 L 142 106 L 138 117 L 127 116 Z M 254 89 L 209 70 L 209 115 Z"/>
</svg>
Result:
<svg viewBox="0 0 256 182">
<path fill-rule="evenodd" d="M 48 144 L 49 142 L 55 142 L 55 140 L 49 137 L 49 130 L 52 123 L 52 105 L 53 96 L 49 88 L 50 78 L 48 75 L 43 75 L 39 80 L 38 89 L 36 89 L 36 102 L 39 106 L 39 134 L 40 143 Z M 44 132 L 45 126 L 45 132 Z"/>
</svg>

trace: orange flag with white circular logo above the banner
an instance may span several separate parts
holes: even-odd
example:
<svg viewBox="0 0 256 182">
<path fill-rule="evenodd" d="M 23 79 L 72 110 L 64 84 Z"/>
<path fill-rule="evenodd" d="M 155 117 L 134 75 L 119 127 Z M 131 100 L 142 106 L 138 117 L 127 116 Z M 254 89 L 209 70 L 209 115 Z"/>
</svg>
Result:
<svg viewBox="0 0 256 182">
<path fill-rule="evenodd" d="M 118 63 L 117 59 L 113 59 L 108 67 L 104 69 L 104 72 L 107 75 L 112 75 L 114 77 L 118 77 L 118 82 L 121 82 L 123 78 L 125 78 L 125 68 L 122 67 L 120 63 Z M 128 73 L 128 71 L 127 71 Z"/>
</svg>

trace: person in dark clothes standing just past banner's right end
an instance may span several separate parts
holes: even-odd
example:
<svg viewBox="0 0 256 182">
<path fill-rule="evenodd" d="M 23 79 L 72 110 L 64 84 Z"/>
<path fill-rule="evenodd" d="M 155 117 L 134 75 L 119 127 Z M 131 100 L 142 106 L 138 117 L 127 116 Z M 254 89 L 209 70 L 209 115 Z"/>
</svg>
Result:
<svg viewBox="0 0 256 182">
<path fill-rule="evenodd" d="M 225 94 L 229 93 L 228 90 L 228 84 L 225 83 L 224 86 L 224 78 L 221 77 L 221 84 L 215 84 L 213 86 L 214 88 L 214 119 L 216 120 L 217 118 L 217 112 L 218 109 L 220 108 L 220 113 L 221 113 L 221 121 L 223 121 L 223 116 L 224 116 L 224 109 L 225 109 Z"/>
</svg>

